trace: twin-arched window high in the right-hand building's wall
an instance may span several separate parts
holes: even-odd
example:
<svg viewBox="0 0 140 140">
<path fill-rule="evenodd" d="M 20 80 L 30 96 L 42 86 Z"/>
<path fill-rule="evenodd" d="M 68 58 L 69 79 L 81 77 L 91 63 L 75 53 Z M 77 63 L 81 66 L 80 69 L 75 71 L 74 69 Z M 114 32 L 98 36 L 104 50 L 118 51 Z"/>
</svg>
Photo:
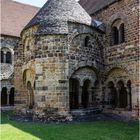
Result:
<svg viewBox="0 0 140 140">
<path fill-rule="evenodd" d="M 125 41 L 125 26 L 121 19 L 113 22 L 111 27 L 111 45 L 118 45 Z"/>
</svg>

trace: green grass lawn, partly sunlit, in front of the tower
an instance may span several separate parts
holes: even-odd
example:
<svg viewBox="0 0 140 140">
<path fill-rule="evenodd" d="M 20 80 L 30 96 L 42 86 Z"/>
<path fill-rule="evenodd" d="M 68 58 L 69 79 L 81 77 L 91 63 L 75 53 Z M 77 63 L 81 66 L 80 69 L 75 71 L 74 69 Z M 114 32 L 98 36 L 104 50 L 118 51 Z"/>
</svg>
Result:
<svg viewBox="0 0 140 140">
<path fill-rule="evenodd" d="M 2 113 L 1 140 L 138 140 L 138 125 L 97 121 L 76 124 L 21 123 Z"/>
</svg>

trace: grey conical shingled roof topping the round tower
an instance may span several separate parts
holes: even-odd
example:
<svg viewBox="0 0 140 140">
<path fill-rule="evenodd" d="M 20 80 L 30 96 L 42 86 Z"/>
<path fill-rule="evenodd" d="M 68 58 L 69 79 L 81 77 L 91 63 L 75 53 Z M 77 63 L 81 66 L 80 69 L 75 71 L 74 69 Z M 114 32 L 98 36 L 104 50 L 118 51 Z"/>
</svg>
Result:
<svg viewBox="0 0 140 140">
<path fill-rule="evenodd" d="M 37 34 L 67 34 L 67 22 L 91 25 L 91 17 L 75 0 L 48 0 L 26 28 L 39 24 Z"/>
</svg>

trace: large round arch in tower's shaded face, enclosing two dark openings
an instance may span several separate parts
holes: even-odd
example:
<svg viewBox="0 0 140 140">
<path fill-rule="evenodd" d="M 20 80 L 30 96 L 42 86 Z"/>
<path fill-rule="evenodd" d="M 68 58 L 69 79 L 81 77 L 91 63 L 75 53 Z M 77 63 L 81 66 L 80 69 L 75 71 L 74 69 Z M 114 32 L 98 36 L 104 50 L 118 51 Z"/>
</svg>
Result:
<svg viewBox="0 0 140 140">
<path fill-rule="evenodd" d="M 69 80 L 70 109 L 90 108 L 95 103 L 96 74 L 90 68 L 77 70 Z"/>
</svg>

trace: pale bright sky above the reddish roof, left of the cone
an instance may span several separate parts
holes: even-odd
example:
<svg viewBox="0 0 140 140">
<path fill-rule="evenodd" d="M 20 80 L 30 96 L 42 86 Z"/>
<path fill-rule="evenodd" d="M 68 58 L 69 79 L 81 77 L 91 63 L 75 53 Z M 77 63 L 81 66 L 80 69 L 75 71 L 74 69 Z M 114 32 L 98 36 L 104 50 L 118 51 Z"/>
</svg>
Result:
<svg viewBox="0 0 140 140">
<path fill-rule="evenodd" d="M 47 0 L 14 0 L 14 1 L 34 5 L 37 7 L 42 7 L 46 3 Z M 76 0 L 76 1 L 78 1 L 78 0 Z"/>
</svg>

